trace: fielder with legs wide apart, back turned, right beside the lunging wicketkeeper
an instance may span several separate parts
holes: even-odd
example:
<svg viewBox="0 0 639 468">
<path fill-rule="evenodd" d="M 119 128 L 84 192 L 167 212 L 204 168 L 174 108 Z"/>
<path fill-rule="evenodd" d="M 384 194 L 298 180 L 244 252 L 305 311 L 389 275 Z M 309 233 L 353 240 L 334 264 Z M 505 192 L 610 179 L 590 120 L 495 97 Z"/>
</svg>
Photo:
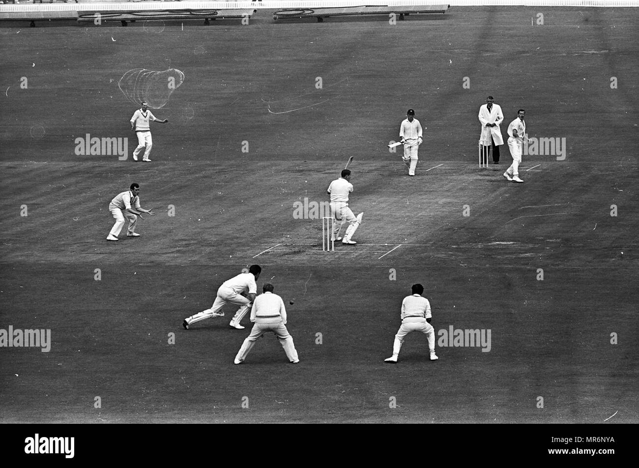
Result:
<svg viewBox="0 0 639 468">
<path fill-rule="evenodd" d="M 286 329 L 286 308 L 284 301 L 277 294 L 273 294 L 273 285 L 265 283 L 263 286 L 263 294 L 255 298 L 253 308 L 250 311 L 250 321 L 255 322 L 250 335 L 242 343 L 242 347 L 235 356 L 234 364 L 242 364 L 246 359 L 255 342 L 266 332 L 273 332 L 279 340 L 286 357 L 293 364 L 300 362 L 295 350 L 293 337 Z"/>
</svg>

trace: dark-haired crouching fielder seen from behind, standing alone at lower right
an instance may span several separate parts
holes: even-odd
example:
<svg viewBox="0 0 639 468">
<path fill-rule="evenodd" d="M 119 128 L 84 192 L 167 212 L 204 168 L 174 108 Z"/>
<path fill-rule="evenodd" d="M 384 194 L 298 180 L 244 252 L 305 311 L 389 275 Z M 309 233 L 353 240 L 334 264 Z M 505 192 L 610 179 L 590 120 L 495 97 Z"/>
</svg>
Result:
<svg viewBox="0 0 639 468">
<path fill-rule="evenodd" d="M 424 286 L 413 285 L 412 292 L 413 295 L 404 297 L 401 303 L 401 326 L 395 335 L 393 355 L 384 359 L 387 363 L 397 363 L 397 356 L 404 343 L 404 336 L 412 331 L 426 334 L 428 348 L 431 350 L 431 361 L 439 359 L 435 354 L 435 329 L 431 325 L 431 304 L 426 297 L 422 297 Z"/>
</svg>

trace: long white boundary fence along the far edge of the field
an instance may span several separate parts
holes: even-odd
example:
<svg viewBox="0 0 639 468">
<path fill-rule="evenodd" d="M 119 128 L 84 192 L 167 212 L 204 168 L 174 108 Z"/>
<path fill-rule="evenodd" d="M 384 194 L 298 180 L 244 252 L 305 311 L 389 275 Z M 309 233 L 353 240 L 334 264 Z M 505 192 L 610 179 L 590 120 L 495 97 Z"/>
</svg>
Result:
<svg viewBox="0 0 639 468">
<path fill-rule="evenodd" d="M 109 10 L 227 10 L 229 8 L 331 8 L 363 5 L 441 5 L 450 6 L 580 6 L 636 7 L 639 0 L 264 0 L 264 1 L 121 1 L 81 3 L 0 4 L 2 12 L 62 12 Z M 126 7 L 126 8 L 125 8 Z"/>
</svg>

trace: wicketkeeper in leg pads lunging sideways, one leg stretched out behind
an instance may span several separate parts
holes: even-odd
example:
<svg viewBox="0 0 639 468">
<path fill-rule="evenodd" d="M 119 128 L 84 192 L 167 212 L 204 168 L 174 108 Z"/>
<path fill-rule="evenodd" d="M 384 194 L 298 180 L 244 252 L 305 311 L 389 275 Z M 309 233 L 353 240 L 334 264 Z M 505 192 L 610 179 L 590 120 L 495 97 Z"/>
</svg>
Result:
<svg viewBox="0 0 639 468">
<path fill-rule="evenodd" d="M 188 330 L 190 325 L 204 320 L 204 318 L 223 317 L 222 308 L 227 302 L 231 302 L 231 304 L 240 304 L 240 308 L 231 319 L 229 325 L 239 330 L 243 329 L 244 327 L 240 325 L 240 321 L 250 309 L 258 292 L 258 285 L 255 282 L 258 280 L 261 271 L 262 269 L 259 265 L 250 265 L 248 273 L 240 273 L 238 276 L 224 281 L 217 290 L 217 297 L 215 297 L 215 302 L 213 302 L 211 308 L 185 318 L 182 326 Z"/>
</svg>

